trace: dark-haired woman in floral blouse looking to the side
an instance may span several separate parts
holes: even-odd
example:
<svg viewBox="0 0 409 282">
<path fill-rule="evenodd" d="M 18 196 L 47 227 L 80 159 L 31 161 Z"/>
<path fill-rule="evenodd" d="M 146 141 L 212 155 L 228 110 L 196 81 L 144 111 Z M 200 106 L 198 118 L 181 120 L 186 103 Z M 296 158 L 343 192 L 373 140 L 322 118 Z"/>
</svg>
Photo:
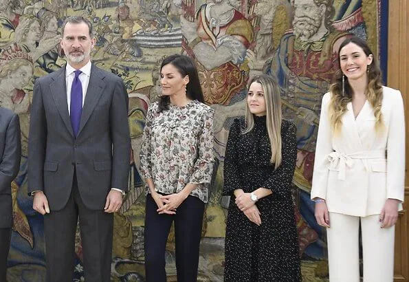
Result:
<svg viewBox="0 0 409 282">
<path fill-rule="evenodd" d="M 188 56 L 161 66 L 162 96 L 150 105 L 140 153 L 146 182 L 146 281 L 166 282 L 165 249 L 175 221 L 177 281 L 197 281 L 199 243 L 213 169 L 213 110 L 203 104 Z"/>
</svg>

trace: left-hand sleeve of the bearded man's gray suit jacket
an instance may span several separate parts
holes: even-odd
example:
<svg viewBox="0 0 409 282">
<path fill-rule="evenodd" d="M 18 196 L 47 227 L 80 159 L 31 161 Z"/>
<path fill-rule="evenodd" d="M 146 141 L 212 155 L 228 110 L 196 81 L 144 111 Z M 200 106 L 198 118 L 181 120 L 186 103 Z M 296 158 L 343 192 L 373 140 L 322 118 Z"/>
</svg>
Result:
<svg viewBox="0 0 409 282">
<path fill-rule="evenodd" d="M 28 138 L 28 195 L 32 191 L 44 191 L 45 140 L 47 120 L 43 104 L 43 93 L 38 79 L 34 84 L 30 112 L 30 136 Z"/>
</svg>

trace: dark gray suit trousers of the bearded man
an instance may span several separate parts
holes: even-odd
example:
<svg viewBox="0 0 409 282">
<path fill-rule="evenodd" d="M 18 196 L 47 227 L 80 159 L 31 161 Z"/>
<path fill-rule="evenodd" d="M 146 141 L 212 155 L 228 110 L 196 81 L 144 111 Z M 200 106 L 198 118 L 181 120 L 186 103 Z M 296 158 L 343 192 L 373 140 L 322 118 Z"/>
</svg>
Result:
<svg viewBox="0 0 409 282">
<path fill-rule="evenodd" d="M 44 216 L 48 282 L 72 282 L 75 235 L 80 221 L 82 259 L 87 282 L 111 280 L 113 214 L 90 210 L 81 200 L 74 173 L 71 195 L 62 210 Z"/>
</svg>

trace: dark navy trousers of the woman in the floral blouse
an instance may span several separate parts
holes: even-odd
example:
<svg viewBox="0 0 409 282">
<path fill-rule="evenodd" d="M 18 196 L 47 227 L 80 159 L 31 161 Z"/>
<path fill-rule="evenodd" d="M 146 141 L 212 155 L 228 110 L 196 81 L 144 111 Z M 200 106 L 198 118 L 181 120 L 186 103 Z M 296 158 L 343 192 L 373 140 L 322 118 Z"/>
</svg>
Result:
<svg viewBox="0 0 409 282">
<path fill-rule="evenodd" d="M 173 221 L 177 281 L 197 281 L 204 206 L 199 198 L 189 196 L 177 208 L 176 215 L 159 215 L 151 194 L 146 196 L 144 242 L 146 282 L 166 282 L 166 241 Z"/>
</svg>

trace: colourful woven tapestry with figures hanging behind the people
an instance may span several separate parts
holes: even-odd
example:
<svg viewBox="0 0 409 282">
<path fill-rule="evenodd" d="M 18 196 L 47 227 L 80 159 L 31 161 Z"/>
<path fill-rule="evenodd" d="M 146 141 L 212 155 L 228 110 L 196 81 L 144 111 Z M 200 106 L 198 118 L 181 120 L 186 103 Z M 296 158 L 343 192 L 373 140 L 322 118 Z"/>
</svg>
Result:
<svg viewBox="0 0 409 282">
<path fill-rule="evenodd" d="M 311 4 L 326 6 L 327 13 L 312 14 L 305 8 Z M 335 50 L 347 33 L 367 39 L 385 60 L 386 50 L 379 47 L 381 29 L 387 23 L 381 19 L 385 10 L 387 1 L 381 0 L 0 0 L 0 105 L 19 114 L 23 147 L 20 173 L 12 183 L 8 280 L 45 281 L 43 217 L 34 212 L 32 197 L 27 196 L 30 102 L 34 80 L 65 64 L 58 56 L 63 20 L 82 15 L 96 30 L 93 63 L 122 77 L 130 97 L 134 162 L 131 192 L 114 218 L 112 281 L 144 281 L 139 147 L 148 104 L 160 94 L 162 58 L 181 52 L 195 59 L 206 102 L 215 110 L 217 169 L 203 221 L 199 281 L 223 281 L 228 203 L 221 197 L 225 143 L 232 120 L 244 113 L 247 80 L 257 73 L 278 78 L 284 117 L 298 129 L 292 191 L 303 278 L 327 281 L 325 234 L 316 224 L 309 200 L 321 98 L 336 69 Z M 303 40 L 306 36 L 311 40 Z M 386 34 L 382 33 L 382 40 L 387 40 Z M 77 233 L 74 281 L 83 281 Z M 168 281 L 176 281 L 173 239 L 171 232 Z"/>
</svg>

